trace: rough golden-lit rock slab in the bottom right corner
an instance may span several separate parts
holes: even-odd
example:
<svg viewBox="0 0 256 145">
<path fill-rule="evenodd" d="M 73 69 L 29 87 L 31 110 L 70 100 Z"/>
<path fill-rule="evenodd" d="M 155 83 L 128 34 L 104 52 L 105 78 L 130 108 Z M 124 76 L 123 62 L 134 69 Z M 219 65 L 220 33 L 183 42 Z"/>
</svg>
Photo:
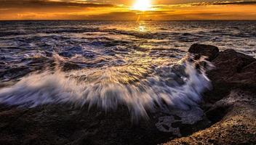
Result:
<svg viewBox="0 0 256 145">
<path fill-rule="evenodd" d="M 234 90 L 207 112 L 217 118 L 210 128 L 167 142 L 172 144 L 256 144 L 256 97 L 249 91 Z M 220 110 L 222 110 L 220 112 Z M 220 113 L 220 114 L 219 114 Z"/>
</svg>

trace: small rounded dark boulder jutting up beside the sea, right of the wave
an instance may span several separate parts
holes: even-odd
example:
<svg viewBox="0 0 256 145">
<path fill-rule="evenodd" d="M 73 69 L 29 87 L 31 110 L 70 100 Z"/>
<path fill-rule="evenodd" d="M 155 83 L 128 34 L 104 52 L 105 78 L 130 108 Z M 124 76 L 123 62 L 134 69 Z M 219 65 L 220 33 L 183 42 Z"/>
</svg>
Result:
<svg viewBox="0 0 256 145">
<path fill-rule="evenodd" d="M 196 54 L 196 57 L 208 57 L 208 60 L 211 61 L 217 57 L 219 49 L 216 46 L 194 43 L 191 48 L 188 49 L 188 52 L 191 54 Z"/>
</svg>

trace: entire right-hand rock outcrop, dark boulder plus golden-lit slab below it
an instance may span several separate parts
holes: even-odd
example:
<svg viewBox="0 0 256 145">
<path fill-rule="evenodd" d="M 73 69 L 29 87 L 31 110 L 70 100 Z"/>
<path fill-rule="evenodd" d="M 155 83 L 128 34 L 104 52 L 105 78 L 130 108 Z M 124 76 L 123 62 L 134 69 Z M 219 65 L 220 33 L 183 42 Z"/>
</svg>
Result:
<svg viewBox="0 0 256 145">
<path fill-rule="evenodd" d="M 225 50 L 212 63 L 215 69 L 207 74 L 213 89 L 202 106 L 213 125 L 166 144 L 256 144 L 255 58 Z"/>
</svg>

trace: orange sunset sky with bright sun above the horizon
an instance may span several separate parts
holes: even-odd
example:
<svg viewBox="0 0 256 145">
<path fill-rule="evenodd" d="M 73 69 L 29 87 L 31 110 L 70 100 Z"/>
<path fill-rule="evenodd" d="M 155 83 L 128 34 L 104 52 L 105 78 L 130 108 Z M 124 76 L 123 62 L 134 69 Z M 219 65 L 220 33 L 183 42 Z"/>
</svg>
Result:
<svg viewBox="0 0 256 145">
<path fill-rule="evenodd" d="M 256 0 L 0 0 L 0 20 L 256 20 Z"/>
</svg>

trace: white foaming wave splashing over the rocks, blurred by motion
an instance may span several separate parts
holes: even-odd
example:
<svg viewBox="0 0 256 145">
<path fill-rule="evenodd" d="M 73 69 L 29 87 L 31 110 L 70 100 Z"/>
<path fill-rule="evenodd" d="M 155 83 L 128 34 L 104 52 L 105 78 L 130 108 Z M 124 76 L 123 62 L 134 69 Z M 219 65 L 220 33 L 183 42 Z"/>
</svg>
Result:
<svg viewBox="0 0 256 145">
<path fill-rule="evenodd" d="M 196 67 L 201 62 L 211 66 L 205 59 L 189 61 L 187 58 L 179 65 L 156 67 L 150 75 L 130 83 L 121 82 L 118 77 L 121 72 L 115 67 L 103 71 L 48 70 L 2 88 L 0 103 L 20 107 L 69 103 L 78 107 L 97 106 L 106 111 L 121 104 L 128 107 L 133 119 L 148 117 L 147 111 L 156 106 L 188 109 L 197 105 L 201 94 L 211 87 L 205 74 L 207 68 Z M 131 76 L 128 73 L 125 77 Z"/>
</svg>

